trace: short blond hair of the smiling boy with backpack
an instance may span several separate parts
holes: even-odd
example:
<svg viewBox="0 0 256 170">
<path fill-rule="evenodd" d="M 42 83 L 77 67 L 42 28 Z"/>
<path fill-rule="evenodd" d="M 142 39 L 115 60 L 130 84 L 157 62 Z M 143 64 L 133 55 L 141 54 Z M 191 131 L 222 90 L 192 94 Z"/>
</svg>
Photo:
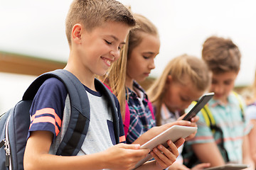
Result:
<svg viewBox="0 0 256 170">
<path fill-rule="evenodd" d="M 71 45 L 72 28 L 76 23 L 82 24 L 87 31 L 91 31 L 107 21 L 125 23 L 131 28 L 136 25 L 132 13 L 119 1 L 74 0 L 65 21 L 69 45 Z"/>
</svg>

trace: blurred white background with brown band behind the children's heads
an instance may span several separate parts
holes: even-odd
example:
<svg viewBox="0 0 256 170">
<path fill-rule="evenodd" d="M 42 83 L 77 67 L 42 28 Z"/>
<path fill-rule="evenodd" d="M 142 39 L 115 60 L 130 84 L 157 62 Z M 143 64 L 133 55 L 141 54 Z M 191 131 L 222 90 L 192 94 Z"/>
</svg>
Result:
<svg viewBox="0 0 256 170">
<path fill-rule="evenodd" d="M 21 100 L 31 81 L 43 72 L 63 68 L 69 47 L 65 16 L 72 0 L 0 0 L 0 113 Z M 161 49 L 147 88 L 167 62 L 187 53 L 201 57 L 210 35 L 231 38 L 242 52 L 239 90 L 252 84 L 256 69 L 256 1 L 254 0 L 120 0 L 149 18 Z"/>
</svg>

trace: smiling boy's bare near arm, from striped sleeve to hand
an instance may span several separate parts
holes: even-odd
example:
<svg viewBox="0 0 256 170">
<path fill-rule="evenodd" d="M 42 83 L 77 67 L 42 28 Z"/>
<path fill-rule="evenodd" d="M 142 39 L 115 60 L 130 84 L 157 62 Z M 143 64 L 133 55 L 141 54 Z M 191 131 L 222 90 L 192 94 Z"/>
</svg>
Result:
<svg viewBox="0 0 256 170">
<path fill-rule="evenodd" d="M 61 157 L 48 154 L 53 134 L 35 131 L 28 138 L 24 154 L 24 169 L 132 169 L 146 157 L 148 149 L 139 145 L 119 144 L 97 154 Z"/>
</svg>

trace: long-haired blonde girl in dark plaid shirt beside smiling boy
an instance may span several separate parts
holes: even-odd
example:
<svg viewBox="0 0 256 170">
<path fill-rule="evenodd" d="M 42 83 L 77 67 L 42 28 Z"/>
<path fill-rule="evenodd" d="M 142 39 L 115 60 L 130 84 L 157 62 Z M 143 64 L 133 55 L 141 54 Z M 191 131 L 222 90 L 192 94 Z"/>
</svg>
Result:
<svg viewBox="0 0 256 170">
<path fill-rule="evenodd" d="M 172 125 L 193 125 L 193 123 L 180 121 L 153 128 L 155 126 L 153 109 L 149 107 L 148 98 L 135 79 L 143 81 L 149 76 L 151 69 L 154 69 L 154 57 L 159 53 L 159 35 L 156 27 L 147 18 L 139 14 L 134 14 L 134 18 L 138 26 L 130 31 L 126 45 L 121 50 L 122 57 L 112 64 L 104 82 L 119 100 L 127 143 L 144 144 Z M 136 101 L 141 117 L 136 109 L 132 109 L 134 106 L 129 106 L 133 101 Z M 139 126 L 138 133 L 133 133 L 138 129 L 134 128 L 134 125 Z M 146 132 L 147 130 L 149 131 Z M 168 141 L 169 149 L 162 145 L 154 148 L 151 155 L 156 159 L 158 169 L 165 169 L 175 161 L 178 157 L 177 147 L 182 143 L 183 139 L 175 142 L 175 145 Z"/>
</svg>

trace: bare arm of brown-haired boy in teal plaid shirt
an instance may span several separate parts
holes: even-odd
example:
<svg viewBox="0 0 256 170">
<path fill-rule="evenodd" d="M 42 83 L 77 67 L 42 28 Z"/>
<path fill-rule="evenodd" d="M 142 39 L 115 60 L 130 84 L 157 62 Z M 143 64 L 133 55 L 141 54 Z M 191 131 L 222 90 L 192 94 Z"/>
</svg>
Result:
<svg viewBox="0 0 256 170">
<path fill-rule="evenodd" d="M 210 163 L 210 166 L 222 166 L 225 164 L 215 142 L 193 144 L 192 149 L 203 163 Z"/>
</svg>

